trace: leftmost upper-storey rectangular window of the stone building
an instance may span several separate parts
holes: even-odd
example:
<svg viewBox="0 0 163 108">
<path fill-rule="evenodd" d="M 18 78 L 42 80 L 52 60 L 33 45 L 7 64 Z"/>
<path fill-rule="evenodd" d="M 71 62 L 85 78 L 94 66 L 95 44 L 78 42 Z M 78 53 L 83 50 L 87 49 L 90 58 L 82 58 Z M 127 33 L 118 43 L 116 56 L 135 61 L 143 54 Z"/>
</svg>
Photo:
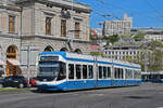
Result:
<svg viewBox="0 0 163 108">
<path fill-rule="evenodd" d="M 15 16 L 9 16 L 9 33 L 15 33 Z"/>
</svg>

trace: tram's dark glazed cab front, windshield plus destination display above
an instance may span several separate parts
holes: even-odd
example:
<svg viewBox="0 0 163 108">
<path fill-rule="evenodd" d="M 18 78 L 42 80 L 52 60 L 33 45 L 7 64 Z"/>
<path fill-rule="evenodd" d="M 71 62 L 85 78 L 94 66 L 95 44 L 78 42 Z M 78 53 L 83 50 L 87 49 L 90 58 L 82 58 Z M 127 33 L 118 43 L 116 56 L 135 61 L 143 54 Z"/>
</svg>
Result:
<svg viewBox="0 0 163 108">
<path fill-rule="evenodd" d="M 41 56 L 38 67 L 39 81 L 60 81 L 66 78 L 66 64 L 59 62 L 59 56 Z"/>
</svg>

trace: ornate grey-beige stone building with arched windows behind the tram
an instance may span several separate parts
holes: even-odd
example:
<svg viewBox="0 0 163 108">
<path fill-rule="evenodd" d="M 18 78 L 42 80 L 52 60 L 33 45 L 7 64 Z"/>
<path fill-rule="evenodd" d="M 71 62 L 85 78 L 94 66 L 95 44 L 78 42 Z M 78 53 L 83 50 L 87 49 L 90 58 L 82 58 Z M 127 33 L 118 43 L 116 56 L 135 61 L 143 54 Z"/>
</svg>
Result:
<svg viewBox="0 0 163 108">
<path fill-rule="evenodd" d="M 5 75 L 35 76 L 37 56 L 43 51 L 88 54 L 90 12 L 88 5 L 70 0 L 0 2 L 0 59 Z"/>
</svg>

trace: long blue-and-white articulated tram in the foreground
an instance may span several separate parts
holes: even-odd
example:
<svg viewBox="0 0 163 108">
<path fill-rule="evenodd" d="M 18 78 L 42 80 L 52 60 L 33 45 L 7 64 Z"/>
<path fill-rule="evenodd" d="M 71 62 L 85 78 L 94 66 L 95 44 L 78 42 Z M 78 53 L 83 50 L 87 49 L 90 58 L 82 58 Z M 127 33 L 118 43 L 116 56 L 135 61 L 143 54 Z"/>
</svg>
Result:
<svg viewBox="0 0 163 108">
<path fill-rule="evenodd" d="M 139 85 L 141 68 L 128 62 L 66 52 L 39 55 L 37 87 L 40 91 L 72 91 Z"/>
</svg>

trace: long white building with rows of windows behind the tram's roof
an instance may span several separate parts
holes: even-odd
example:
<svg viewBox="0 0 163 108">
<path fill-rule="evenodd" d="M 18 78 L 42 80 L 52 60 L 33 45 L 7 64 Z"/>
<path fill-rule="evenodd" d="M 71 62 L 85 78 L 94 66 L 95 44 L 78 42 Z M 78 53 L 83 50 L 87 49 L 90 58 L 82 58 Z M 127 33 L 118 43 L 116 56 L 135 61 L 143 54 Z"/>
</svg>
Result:
<svg viewBox="0 0 163 108">
<path fill-rule="evenodd" d="M 103 55 L 108 58 L 125 60 L 127 56 L 137 58 L 140 53 L 142 42 L 135 42 L 133 39 L 121 40 L 113 45 L 104 48 Z"/>
</svg>

